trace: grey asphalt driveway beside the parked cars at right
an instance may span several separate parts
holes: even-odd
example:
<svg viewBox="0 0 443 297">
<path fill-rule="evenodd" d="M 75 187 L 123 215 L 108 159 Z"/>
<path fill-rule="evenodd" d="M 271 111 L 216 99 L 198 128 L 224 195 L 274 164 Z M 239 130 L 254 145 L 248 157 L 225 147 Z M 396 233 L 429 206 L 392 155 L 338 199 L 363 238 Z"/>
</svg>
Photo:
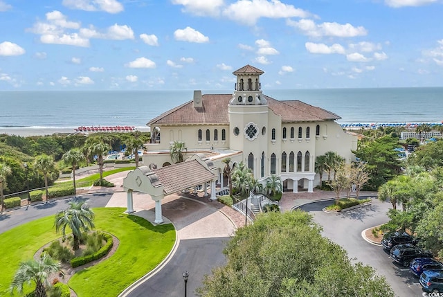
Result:
<svg viewBox="0 0 443 297">
<path fill-rule="evenodd" d="M 314 215 L 314 221 L 323 226 L 323 235 L 340 244 L 356 261 L 368 264 L 386 277 L 396 296 L 422 296 L 422 287 L 409 269 L 397 265 L 383 247 L 363 240 L 361 232 L 366 228 L 388 222 L 386 215 L 390 204 L 372 199 L 372 205 L 345 213 L 324 213 L 322 209 L 331 201 L 305 204 L 300 209 Z"/>
</svg>

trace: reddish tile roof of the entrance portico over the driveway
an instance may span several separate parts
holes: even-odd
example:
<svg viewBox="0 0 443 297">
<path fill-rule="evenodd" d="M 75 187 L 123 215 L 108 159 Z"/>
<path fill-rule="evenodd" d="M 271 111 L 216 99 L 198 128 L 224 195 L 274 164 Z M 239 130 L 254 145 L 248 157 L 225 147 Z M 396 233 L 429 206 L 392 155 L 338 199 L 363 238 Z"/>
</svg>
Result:
<svg viewBox="0 0 443 297">
<path fill-rule="evenodd" d="M 159 181 L 163 184 L 165 195 L 179 192 L 215 178 L 215 174 L 197 160 L 153 169 L 152 172 L 159 177 Z"/>
</svg>

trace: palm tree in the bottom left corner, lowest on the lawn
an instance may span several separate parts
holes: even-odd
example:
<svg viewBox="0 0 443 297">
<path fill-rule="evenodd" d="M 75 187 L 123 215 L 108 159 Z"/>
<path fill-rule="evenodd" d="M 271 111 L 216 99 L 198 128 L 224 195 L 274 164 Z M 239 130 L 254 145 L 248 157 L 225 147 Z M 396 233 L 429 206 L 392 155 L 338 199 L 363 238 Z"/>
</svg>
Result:
<svg viewBox="0 0 443 297">
<path fill-rule="evenodd" d="M 60 271 L 60 262 L 46 253 L 39 260 L 21 262 L 10 285 L 10 292 L 12 294 L 17 288 L 17 291 L 21 293 L 26 283 L 30 285 L 31 282 L 35 282 L 34 296 L 46 297 L 46 288 L 51 287 L 48 276 L 57 271 Z"/>
</svg>

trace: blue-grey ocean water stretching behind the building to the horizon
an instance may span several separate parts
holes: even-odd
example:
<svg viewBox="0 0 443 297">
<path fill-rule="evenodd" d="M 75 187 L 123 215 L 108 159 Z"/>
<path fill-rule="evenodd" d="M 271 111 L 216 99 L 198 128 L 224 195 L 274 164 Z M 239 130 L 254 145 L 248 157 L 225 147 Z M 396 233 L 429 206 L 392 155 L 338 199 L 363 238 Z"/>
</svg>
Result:
<svg viewBox="0 0 443 297">
<path fill-rule="evenodd" d="M 203 91 L 233 93 L 233 91 Z M 338 123 L 441 123 L 443 88 L 264 90 L 332 111 Z M 0 91 L 0 127 L 145 127 L 193 91 Z"/>
</svg>

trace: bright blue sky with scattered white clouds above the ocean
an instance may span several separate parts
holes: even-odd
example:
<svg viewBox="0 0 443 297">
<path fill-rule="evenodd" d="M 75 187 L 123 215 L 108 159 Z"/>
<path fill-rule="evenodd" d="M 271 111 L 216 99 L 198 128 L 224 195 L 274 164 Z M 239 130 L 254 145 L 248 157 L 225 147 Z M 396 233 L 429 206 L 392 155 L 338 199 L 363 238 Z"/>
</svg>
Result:
<svg viewBox="0 0 443 297">
<path fill-rule="evenodd" d="M 0 91 L 443 87 L 442 0 L 0 0 Z"/>
</svg>

